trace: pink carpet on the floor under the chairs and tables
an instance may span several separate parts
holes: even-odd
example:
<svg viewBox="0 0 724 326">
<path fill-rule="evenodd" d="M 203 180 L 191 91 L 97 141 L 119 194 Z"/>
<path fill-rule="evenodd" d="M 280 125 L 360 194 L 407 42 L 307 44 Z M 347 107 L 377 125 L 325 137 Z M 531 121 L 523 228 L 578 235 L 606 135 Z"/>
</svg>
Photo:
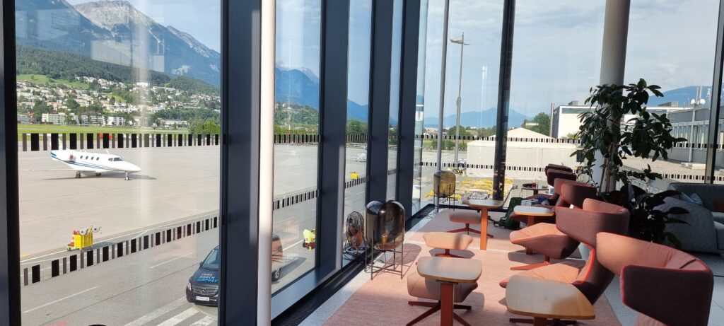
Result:
<svg viewBox="0 0 724 326">
<path fill-rule="evenodd" d="M 491 215 L 496 220 L 502 216 L 494 213 Z M 451 223 L 447 219 L 434 218 L 417 233 L 405 238 L 403 268 L 405 277 L 415 272 L 415 262 L 418 257 L 437 253 L 437 249 L 425 246 L 422 238 L 424 233 L 458 227 L 462 225 Z M 473 227 L 478 229 L 477 225 Z M 523 247 L 510 243 L 508 241 L 510 230 L 493 227 L 489 222 L 488 233 L 494 235 L 494 238 L 488 239 L 487 251 L 478 249 L 480 246 L 478 235 L 473 235 L 474 241 L 468 247 L 468 251 L 452 251 L 452 254 L 471 257 L 483 264 L 478 288 L 463 302 L 473 309 L 468 312 L 458 310 L 457 313 L 471 325 L 515 325 L 508 322 L 508 319 L 520 316 L 507 311 L 505 289 L 500 288 L 498 282 L 516 273 L 510 271 L 510 267 L 540 262 L 542 256 L 527 256 L 523 252 Z M 408 295 L 407 280 L 404 277 L 400 280 L 400 275 L 380 273 L 375 275 L 374 280 L 367 281 L 353 293 L 324 325 L 405 325 L 427 309 L 409 306 L 407 302 L 411 300 L 416 298 Z M 578 325 L 620 325 L 605 296 L 598 299 L 594 309 L 596 309 L 596 319 L 579 321 Z M 436 312 L 416 325 L 439 325 L 439 318 L 440 314 Z"/>
</svg>

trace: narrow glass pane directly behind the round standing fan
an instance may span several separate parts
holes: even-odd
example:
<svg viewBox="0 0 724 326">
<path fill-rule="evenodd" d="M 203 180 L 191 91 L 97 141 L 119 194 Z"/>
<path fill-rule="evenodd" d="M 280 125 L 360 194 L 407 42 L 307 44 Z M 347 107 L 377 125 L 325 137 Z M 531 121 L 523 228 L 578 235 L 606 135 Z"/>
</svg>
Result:
<svg viewBox="0 0 724 326">
<path fill-rule="evenodd" d="M 367 189 L 367 141 L 369 123 L 369 74 L 372 42 L 372 0 L 350 1 L 347 79 L 347 159 L 345 160 L 344 262 L 360 254 Z M 357 214 L 358 213 L 358 214 Z"/>
</svg>

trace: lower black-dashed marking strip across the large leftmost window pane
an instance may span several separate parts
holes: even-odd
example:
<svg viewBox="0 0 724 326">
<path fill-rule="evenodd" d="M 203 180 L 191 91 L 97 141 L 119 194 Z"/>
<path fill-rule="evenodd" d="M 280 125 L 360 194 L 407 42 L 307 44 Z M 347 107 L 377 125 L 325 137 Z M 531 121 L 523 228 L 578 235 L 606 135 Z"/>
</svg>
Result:
<svg viewBox="0 0 724 326">
<path fill-rule="evenodd" d="M 112 259 L 135 254 L 155 246 L 161 246 L 164 243 L 177 241 L 190 235 L 214 230 L 217 227 L 219 227 L 219 217 L 208 217 L 185 225 L 177 225 L 166 230 L 157 231 L 156 233 L 143 235 L 138 238 L 113 243 L 109 246 L 92 248 L 59 259 L 34 264 L 21 269 L 21 284 L 26 286 L 43 280 L 50 280 L 54 277 L 102 264 Z"/>
</svg>

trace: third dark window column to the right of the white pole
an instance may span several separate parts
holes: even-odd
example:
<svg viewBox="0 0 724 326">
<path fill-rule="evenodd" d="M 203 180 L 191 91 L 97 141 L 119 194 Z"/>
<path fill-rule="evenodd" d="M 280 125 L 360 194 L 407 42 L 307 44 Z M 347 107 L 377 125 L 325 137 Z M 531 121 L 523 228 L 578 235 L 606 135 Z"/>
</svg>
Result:
<svg viewBox="0 0 724 326">
<path fill-rule="evenodd" d="M 415 172 L 415 112 L 417 104 L 418 50 L 420 46 L 420 1 L 405 1 L 403 17 L 402 85 L 400 86 L 400 141 L 397 158 L 397 201 L 412 215 Z M 423 63 L 424 64 L 424 63 Z"/>
</svg>

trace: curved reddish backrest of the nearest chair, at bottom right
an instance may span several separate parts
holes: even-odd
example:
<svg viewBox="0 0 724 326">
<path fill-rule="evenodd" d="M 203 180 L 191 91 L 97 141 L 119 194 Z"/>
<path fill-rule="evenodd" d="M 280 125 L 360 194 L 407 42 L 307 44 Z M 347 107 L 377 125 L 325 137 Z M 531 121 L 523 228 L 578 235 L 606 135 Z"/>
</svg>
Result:
<svg viewBox="0 0 724 326">
<path fill-rule="evenodd" d="M 707 325 L 714 277 L 704 262 L 623 235 L 599 233 L 597 243 L 599 262 L 621 275 L 623 303 L 642 314 L 636 324 Z"/>
</svg>

